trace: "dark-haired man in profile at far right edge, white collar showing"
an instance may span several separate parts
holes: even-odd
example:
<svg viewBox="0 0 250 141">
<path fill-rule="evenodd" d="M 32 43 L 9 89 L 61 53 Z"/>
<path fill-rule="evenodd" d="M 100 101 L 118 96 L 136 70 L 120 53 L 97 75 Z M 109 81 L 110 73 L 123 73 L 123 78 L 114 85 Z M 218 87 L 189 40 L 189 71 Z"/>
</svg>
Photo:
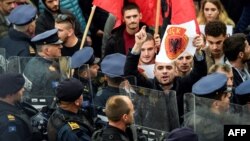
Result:
<svg viewBox="0 0 250 141">
<path fill-rule="evenodd" d="M 234 76 L 234 87 L 249 80 L 250 74 L 247 61 L 250 60 L 250 46 L 243 33 L 237 33 L 228 37 L 223 44 L 225 57 L 228 64 L 232 66 Z"/>
</svg>

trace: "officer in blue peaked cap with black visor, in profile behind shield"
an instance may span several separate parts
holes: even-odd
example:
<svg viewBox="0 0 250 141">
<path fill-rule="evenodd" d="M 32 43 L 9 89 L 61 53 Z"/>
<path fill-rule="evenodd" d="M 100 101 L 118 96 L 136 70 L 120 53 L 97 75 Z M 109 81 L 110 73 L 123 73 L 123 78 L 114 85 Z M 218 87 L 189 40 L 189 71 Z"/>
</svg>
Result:
<svg viewBox="0 0 250 141">
<path fill-rule="evenodd" d="M 31 58 L 24 68 L 24 75 L 32 83 L 29 95 L 54 96 L 56 83 L 63 74 L 60 72 L 58 57 L 61 43 L 57 29 L 48 30 L 32 38 L 36 44 L 37 56 Z"/>
</svg>

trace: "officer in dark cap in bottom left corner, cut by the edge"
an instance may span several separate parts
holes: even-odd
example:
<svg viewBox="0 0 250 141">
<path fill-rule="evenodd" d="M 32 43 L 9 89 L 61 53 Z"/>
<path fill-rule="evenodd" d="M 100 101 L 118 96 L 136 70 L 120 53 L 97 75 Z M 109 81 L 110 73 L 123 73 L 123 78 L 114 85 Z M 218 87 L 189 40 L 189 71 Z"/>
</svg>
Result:
<svg viewBox="0 0 250 141">
<path fill-rule="evenodd" d="M 28 116 L 16 104 L 21 101 L 25 79 L 21 74 L 0 75 L 0 140 L 32 141 Z"/>
</svg>

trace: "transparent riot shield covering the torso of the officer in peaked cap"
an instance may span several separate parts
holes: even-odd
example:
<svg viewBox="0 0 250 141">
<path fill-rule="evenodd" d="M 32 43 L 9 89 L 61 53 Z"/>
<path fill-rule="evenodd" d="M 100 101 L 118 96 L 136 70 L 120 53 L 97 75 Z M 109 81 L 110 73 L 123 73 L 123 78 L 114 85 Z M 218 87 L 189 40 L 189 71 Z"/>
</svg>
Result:
<svg viewBox="0 0 250 141">
<path fill-rule="evenodd" d="M 13 56 L 9 58 L 7 70 L 23 74 L 25 78 L 23 100 L 36 108 L 54 104 L 56 87 L 65 78 L 59 58 Z"/>
</svg>

